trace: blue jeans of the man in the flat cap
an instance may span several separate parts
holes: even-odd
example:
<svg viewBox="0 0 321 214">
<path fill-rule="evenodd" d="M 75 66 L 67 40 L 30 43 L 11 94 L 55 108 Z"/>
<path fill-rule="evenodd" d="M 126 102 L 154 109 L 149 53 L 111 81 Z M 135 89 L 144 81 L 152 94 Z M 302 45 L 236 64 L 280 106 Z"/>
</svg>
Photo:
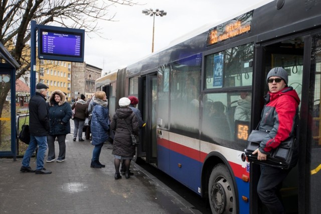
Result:
<svg viewBox="0 0 321 214">
<path fill-rule="evenodd" d="M 22 159 L 22 165 L 28 167 L 30 164 L 30 158 L 32 154 L 35 152 L 38 145 L 37 152 L 37 168 L 36 170 L 41 170 L 44 168 L 44 159 L 47 151 L 47 136 L 34 136 L 30 135 L 30 143 Z"/>
</svg>

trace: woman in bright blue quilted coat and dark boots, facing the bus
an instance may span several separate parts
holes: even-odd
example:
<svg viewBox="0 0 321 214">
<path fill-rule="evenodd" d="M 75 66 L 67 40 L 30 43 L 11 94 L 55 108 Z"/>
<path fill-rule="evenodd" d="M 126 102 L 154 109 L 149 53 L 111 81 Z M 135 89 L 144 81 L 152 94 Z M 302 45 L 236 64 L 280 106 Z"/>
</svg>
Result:
<svg viewBox="0 0 321 214">
<path fill-rule="evenodd" d="M 90 167 L 101 168 L 104 164 L 99 162 L 101 148 L 108 139 L 108 101 L 106 93 L 97 91 L 92 99 L 93 110 L 91 116 L 91 144 L 94 145 Z"/>
</svg>

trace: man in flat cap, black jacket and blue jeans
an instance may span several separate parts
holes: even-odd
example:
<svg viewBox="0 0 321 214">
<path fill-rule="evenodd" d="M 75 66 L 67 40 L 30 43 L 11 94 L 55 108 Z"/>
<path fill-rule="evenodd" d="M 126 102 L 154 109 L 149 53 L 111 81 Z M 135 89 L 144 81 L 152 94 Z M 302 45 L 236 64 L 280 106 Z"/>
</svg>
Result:
<svg viewBox="0 0 321 214">
<path fill-rule="evenodd" d="M 36 85 L 36 94 L 29 102 L 29 129 L 30 143 L 22 160 L 21 172 L 36 172 L 36 174 L 50 174 L 51 171 L 44 168 L 44 159 L 47 151 L 47 135 L 49 134 L 49 117 L 46 104 L 47 89 L 43 83 Z M 30 158 L 38 146 L 37 168 L 30 166 Z"/>
</svg>

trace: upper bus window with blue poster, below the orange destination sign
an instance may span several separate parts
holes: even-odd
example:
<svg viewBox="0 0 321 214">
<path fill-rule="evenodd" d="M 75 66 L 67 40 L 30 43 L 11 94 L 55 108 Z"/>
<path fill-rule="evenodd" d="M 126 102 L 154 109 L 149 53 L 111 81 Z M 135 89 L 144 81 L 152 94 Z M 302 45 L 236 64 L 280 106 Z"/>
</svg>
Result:
<svg viewBox="0 0 321 214">
<path fill-rule="evenodd" d="M 253 43 L 205 57 L 205 89 L 252 85 Z"/>
</svg>

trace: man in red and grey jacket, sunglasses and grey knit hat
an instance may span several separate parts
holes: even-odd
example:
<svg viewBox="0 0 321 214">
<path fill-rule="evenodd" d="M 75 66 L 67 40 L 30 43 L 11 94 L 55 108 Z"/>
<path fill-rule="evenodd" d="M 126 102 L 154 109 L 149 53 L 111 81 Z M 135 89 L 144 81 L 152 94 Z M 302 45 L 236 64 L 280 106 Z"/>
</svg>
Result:
<svg viewBox="0 0 321 214">
<path fill-rule="evenodd" d="M 281 68 L 273 68 L 266 78 L 269 92 L 265 96 L 266 104 L 262 111 L 262 119 L 259 130 L 269 131 L 262 140 L 260 147 L 253 154 L 258 153 L 258 160 L 266 160 L 266 156 L 288 137 L 294 136 L 296 121 L 298 119 L 298 105 L 300 99 L 292 87 L 287 86 L 287 72 Z M 283 204 L 279 198 L 279 190 L 282 181 L 291 168 L 296 165 L 297 151 L 293 152 L 291 167 L 281 169 L 261 165 L 261 175 L 257 185 L 257 193 L 270 213 L 285 213 Z"/>
</svg>

